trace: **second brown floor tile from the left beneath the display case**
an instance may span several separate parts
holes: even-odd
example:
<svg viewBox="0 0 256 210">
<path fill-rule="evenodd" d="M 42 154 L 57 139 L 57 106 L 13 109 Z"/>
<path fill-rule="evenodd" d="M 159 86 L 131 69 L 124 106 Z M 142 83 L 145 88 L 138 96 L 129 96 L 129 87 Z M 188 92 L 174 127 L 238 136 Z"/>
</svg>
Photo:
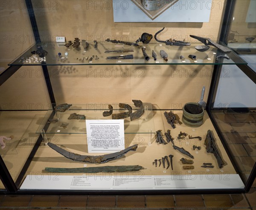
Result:
<svg viewBox="0 0 256 210">
<path fill-rule="evenodd" d="M 60 196 L 34 196 L 31 207 L 57 207 Z"/>
</svg>

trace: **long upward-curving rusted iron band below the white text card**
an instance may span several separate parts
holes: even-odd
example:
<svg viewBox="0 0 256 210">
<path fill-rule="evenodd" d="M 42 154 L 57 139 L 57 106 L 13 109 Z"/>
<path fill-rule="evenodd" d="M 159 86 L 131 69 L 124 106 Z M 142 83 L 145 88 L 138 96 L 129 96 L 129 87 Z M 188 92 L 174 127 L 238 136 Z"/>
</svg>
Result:
<svg viewBox="0 0 256 210">
<path fill-rule="evenodd" d="M 51 147 L 53 150 L 56 152 L 60 153 L 66 158 L 69 158 L 74 161 L 82 161 L 82 162 L 88 162 L 88 163 L 106 163 L 108 161 L 112 161 L 114 159 L 120 158 L 123 155 L 125 155 L 127 152 L 133 150 L 135 151 L 138 147 L 138 144 L 135 144 L 131 147 L 126 148 L 125 150 L 121 150 L 119 152 L 114 152 L 106 155 L 97 155 L 97 156 L 92 156 L 92 155 L 79 155 L 75 154 L 73 152 L 68 152 L 67 150 L 62 149 L 61 147 L 58 147 L 55 144 L 48 143 L 48 146 Z"/>
</svg>

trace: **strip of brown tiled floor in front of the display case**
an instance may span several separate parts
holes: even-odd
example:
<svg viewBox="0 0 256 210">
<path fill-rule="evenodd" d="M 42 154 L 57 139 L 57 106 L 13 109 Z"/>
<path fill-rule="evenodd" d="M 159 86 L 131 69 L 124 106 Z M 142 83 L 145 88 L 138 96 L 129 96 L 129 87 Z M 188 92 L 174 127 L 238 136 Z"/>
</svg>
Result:
<svg viewBox="0 0 256 210">
<path fill-rule="evenodd" d="M 256 186 L 245 194 L 175 196 L 3 196 L 0 210 L 256 210 Z"/>
</svg>

